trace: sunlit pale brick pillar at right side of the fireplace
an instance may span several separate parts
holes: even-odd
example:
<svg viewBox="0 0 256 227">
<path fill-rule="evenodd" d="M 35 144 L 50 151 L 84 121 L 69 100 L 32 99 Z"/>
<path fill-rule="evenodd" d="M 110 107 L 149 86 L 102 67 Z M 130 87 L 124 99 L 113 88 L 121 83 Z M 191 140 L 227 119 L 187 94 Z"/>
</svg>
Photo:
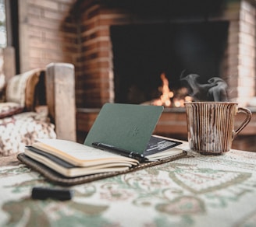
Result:
<svg viewBox="0 0 256 227">
<path fill-rule="evenodd" d="M 247 106 L 255 96 L 255 4 L 250 1 L 231 2 L 226 10 L 229 19 L 226 81 L 230 97 Z"/>
</svg>

